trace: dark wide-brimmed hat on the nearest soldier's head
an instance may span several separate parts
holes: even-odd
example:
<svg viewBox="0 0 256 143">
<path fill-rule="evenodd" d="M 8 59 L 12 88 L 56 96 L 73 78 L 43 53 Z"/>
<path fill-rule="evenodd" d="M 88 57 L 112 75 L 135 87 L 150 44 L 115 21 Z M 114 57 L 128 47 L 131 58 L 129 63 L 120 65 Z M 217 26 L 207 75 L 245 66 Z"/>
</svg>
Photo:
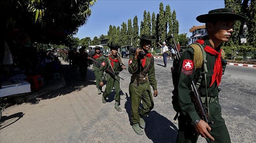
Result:
<svg viewBox="0 0 256 143">
<path fill-rule="evenodd" d="M 235 13 L 232 8 L 219 8 L 208 12 L 208 14 L 199 15 L 196 20 L 201 23 L 213 22 L 218 20 L 246 20 L 248 17 L 242 13 Z"/>
</svg>

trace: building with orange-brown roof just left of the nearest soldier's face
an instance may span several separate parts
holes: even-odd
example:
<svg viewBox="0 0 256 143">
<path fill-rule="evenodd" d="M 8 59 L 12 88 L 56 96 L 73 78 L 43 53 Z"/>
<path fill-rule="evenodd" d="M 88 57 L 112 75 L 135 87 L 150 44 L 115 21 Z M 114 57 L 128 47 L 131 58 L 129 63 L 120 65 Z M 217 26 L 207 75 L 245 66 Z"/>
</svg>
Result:
<svg viewBox="0 0 256 143">
<path fill-rule="evenodd" d="M 195 42 L 198 39 L 202 39 L 202 37 L 207 35 L 205 25 L 193 26 L 191 29 L 189 29 L 189 32 L 192 32 L 192 36 L 190 36 L 190 39 L 191 39 L 192 43 Z"/>
</svg>

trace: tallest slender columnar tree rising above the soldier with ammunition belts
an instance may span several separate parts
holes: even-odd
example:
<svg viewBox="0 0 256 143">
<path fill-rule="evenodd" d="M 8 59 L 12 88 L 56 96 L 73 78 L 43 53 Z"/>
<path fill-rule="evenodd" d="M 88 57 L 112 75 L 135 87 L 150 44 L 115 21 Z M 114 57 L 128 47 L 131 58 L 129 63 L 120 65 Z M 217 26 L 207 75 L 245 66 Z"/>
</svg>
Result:
<svg viewBox="0 0 256 143">
<path fill-rule="evenodd" d="M 159 40 L 161 42 L 166 39 L 166 18 L 164 17 L 164 5 L 161 2 L 159 5 Z"/>
</svg>

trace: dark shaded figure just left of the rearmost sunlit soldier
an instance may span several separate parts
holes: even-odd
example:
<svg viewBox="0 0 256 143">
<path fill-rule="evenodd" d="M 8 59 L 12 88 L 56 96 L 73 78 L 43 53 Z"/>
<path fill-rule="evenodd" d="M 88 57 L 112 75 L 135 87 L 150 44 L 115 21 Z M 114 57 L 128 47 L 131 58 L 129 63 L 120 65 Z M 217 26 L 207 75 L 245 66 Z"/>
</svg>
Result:
<svg viewBox="0 0 256 143">
<path fill-rule="evenodd" d="M 81 75 L 81 81 L 86 81 L 88 67 L 88 54 L 85 52 L 85 47 L 79 49 L 79 71 Z"/>
</svg>

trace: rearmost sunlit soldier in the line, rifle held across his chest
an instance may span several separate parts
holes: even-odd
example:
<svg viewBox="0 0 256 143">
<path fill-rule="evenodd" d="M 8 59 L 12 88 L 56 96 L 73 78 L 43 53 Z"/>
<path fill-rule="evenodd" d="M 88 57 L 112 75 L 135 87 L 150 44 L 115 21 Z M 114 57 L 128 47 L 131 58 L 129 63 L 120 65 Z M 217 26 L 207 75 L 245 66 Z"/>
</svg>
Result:
<svg viewBox="0 0 256 143">
<path fill-rule="evenodd" d="M 97 62 L 102 63 L 104 60 L 104 56 L 100 53 L 100 47 L 95 47 L 95 54 L 92 55 L 93 59 Z M 98 89 L 98 94 L 101 94 L 102 87 L 100 86 L 100 75 L 99 75 L 100 65 L 93 62 L 92 71 L 94 72 L 95 79 L 96 79 L 96 87 Z"/>
</svg>

